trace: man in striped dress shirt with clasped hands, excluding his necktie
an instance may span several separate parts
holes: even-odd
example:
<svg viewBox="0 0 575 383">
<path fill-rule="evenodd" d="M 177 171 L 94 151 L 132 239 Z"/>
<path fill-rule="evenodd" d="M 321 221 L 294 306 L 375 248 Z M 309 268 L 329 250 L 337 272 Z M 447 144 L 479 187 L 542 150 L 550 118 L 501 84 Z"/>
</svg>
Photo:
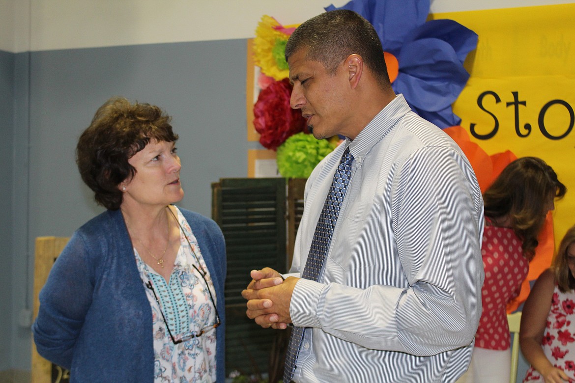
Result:
<svg viewBox="0 0 575 383">
<path fill-rule="evenodd" d="M 381 42 L 335 10 L 286 46 L 291 104 L 316 138 L 346 140 L 305 188 L 290 273 L 254 270 L 247 315 L 305 327 L 296 382 L 453 382 L 481 315 L 483 202 L 458 146 L 394 94 Z M 317 281 L 300 278 L 344 150 L 351 180 Z"/>
</svg>

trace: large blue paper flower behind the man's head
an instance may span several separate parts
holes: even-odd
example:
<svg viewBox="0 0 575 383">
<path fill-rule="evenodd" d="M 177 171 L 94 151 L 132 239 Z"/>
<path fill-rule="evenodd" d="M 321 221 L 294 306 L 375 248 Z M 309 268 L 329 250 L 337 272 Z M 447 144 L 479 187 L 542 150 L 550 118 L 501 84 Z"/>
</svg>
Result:
<svg viewBox="0 0 575 383">
<path fill-rule="evenodd" d="M 465 87 L 467 53 L 477 34 L 454 20 L 425 21 L 430 0 L 352 0 L 326 11 L 348 9 L 374 26 L 385 52 L 394 55 L 399 73 L 392 87 L 421 117 L 442 129 L 461 123 L 451 109 Z"/>
</svg>

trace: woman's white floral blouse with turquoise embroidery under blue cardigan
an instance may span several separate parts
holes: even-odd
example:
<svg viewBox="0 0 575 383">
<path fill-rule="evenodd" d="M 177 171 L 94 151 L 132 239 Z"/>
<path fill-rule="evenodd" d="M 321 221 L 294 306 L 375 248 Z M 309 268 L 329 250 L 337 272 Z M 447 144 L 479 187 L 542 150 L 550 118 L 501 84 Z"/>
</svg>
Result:
<svg viewBox="0 0 575 383">
<path fill-rule="evenodd" d="M 217 297 L 196 237 L 177 207 L 175 210 L 181 246 L 169 281 L 148 267 L 134 248 L 152 307 L 154 382 L 215 382 Z M 174 344 L 172 336 L 176 341 L 188 340 Z"/>
</svg>

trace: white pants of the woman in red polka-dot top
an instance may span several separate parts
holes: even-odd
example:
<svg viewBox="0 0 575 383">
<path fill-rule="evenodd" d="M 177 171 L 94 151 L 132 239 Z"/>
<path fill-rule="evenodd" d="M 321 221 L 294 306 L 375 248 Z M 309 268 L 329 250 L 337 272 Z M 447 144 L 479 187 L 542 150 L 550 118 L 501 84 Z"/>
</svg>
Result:
<svg viewBox="0 0 575 383">
<path fill-rule="evenodd" d="M 511 349 L 488 350 L 473 348 L 467 372 L 457 383 L 509 383 L 511 375 Z"/>
</svg>

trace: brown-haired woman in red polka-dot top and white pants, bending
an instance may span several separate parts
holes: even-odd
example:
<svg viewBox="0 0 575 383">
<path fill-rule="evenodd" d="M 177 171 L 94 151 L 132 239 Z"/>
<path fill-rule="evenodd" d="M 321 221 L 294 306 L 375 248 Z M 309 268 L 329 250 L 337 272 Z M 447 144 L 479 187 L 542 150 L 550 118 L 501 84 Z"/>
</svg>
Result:
<svg viewBox="0 0 575 383">
<path fill-rule="evenodd" d="M 547 212 L 565 192 L 553 169 L 536 157 L 518 158 L 507 165 L 484 192 L 483 311 L 471 364 L 458 383 L 509 382 L 507 304 L 527 277 Z"/>
</svg>

